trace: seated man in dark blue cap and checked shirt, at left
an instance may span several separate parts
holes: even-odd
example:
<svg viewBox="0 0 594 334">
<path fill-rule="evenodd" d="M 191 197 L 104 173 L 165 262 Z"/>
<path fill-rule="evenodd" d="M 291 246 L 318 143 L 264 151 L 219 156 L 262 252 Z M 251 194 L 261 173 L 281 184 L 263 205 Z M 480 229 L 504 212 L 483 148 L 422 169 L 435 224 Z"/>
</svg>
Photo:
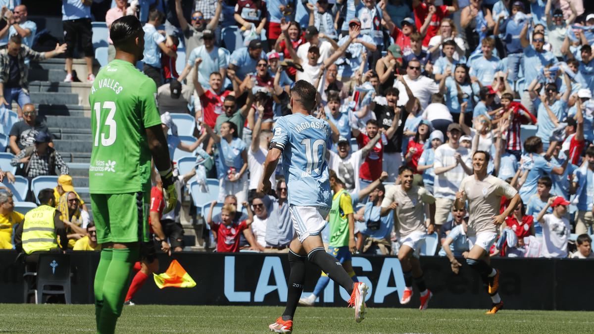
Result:
<svg viewBox="0 0 594 334">
<path fill-rule="evenodd" d="M 28 146 L 10 160 L 11 166 L 24 164 L 24 177 L 34 178 L 40 175 L 56 175 L 56 167 L 60 174 L 69 174 L 70 169 L 62 156 L 49 146 L 49 134 L 40 131 L 35 136 L 34 146 Z"/>
</svg>

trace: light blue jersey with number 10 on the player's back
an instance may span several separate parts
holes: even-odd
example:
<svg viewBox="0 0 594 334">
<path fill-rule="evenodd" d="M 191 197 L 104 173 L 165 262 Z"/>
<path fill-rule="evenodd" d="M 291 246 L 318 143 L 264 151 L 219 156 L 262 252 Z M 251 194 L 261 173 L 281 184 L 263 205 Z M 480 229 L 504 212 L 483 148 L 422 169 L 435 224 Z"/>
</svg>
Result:
<svg viewBox="0 0 594 334">
<path fill-rule="evenodd" d="M 277 119 L 271 146 L 283 150 L 289 204 L 331 207 L 326 163 L 330 144 L 330 125 L 323 119 L 300 113 Z"/>
</svg>

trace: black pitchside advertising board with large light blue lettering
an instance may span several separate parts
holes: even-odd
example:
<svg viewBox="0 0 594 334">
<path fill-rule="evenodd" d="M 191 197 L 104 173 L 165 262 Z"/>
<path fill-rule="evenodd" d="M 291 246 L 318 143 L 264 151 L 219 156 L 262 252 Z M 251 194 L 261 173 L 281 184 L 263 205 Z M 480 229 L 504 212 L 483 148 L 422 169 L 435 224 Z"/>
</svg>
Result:
<svg viewBox="0 0 594 334">
<path fill-rule="evenodd" d="M 99 252 L 74 252 L 71 256 L 72 303 L 93 303 L 93 279 Z M 179 305 L 284 305 L 289 276 L 286 254 L 178 253 L 173 256 L 196 281 L 194 288 L 159 290 L 152 280 L 135 295 L 138 304 Z M 15 251 L 0 251 L 0 303 L 23 303 L 23 264 Z M 159 254 L 160 272 L 171 258 Z M 479 276 L 463 259 L 454 275 L 445 257 L 421 257 L 425 281 L 434 294 L 431 308 L 486 308 L 491 300 Z M 492 259 L 501 270 L 500 295 L 507 309 L 594 310 L 592 278 L 594 260 Z M 396 257 L 355 256 L 353 267 L 360 281 L 369 285 L 370 307 L 418 307 L 415 289 L 409 305 L 400 305 L 404 289 Z M 309 295 L 320 270 L 308 264 L 304 295 Z M 318 305 L 345 307 L 349 296 L 330 281 Z M 370 313 L 369 316 L 372 316 Z"/>
</svg>

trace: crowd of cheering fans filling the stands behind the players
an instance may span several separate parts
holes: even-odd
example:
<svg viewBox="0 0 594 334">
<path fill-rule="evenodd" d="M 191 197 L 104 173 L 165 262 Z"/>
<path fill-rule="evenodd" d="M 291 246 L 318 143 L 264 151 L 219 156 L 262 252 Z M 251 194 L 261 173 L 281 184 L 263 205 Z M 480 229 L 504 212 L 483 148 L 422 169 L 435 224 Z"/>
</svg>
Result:
<svg viewBox="0 0 594 334">
<path fill-rule="evenodd" d="M 312 115 L 326 119 L 333 131 L 328 165 L 359 203 L 359 251 L 397 253 L 398 222 L 380 217 L 378 208 L 386 188 L 399 182 L 399 167 L 408 165 L 415 182 L 436 198 L 432 218 L 440 254 L 462 255 L 466 212 L 454 209 L 453 201 L 462 179 L 472 174 L 472 153 L 483 150 L 491 156 L 489 173 L 522 197 L 501 226 L 493 256 L 568 257 L 574 232 L 572 257 L 592 257 L 594 12 L 584 11 L 582 0 L 438 2 L 117 0 L 105 21 L 109 27 L 123 15 L 137 15 L 144 24 L 142 68 L 157 86 L 170 156 L 176 150 L 197 156 L 195 169 L 179 175 L 178 188 L 194 177 L 199 183 L 220 180 L 221 213 L 203 213 L 218 251 L 287 251 L 292 224 L 280 171 L 276 196 L 261 197 L 255 189 L 274 121 L 290 114 L 290 86 L 307 80 L 319 93 Z M 15 10 L 14 24 L 17 15 Z M 90 16 L 79 16 L 65 20 L 83 31 Z M 233 26 L 242 35 L 241 48 L 222 38 L 223 29 Z M 14 31 L 21 34 L 22 27 Z M 55 54 L 71 55 L 72 43 L 66 42 Z M 182 47 L 185 66 L 178 69 Z M 27 55 L 43 58 L 21 46 L 18 61 Z M 110 59 L 114 55 L 110 45 Z M 0 71 L 7 103 L 12 86 L 6 83 L 26 87 L 22 72 L 12 73 L 13 58 Z M 23 101 L 24 123 L 10 133 L 14 165 L 25 165 L 27 177 L 55 174 L 55 167 L 68 174 L 48 131 Z M 194 116 L 195 143 L 179 139 L 173 113 Z M 34 149 L 27 149 L 31 144 Z M 62 196 L 69 203 L 68 194 Z M 502 201 L 502 210 L 507 203 Z M 170 226 L 169 240 L 181 250 L 178 216 L 179 206 L 164 229 Z M 83 236 L 89 226 L 71 232 Z"/>
</svg>

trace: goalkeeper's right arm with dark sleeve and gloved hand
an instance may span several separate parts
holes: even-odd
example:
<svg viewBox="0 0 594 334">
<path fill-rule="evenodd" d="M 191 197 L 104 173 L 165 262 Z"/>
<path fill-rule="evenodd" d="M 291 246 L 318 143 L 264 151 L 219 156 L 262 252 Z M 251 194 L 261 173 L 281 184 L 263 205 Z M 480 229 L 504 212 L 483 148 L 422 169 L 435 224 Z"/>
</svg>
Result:
<svg viewBox="0 0 594 334">
<path fill-rule="evenodd" d="M 168 213 L 175 207 L 178 196 L 175 192 L 175 185 L 173 184 L 173 167 L 171 165 L 171 158 L 169 157 L 167 138 L 163 134 L 161 124 L 146 128 L 146 134 L 154 165 L 157 167 L 157 171 L 159 171 L 161 181 L 163 182 L 163 199 L 165 200 L 165 210 L 163 213 Z"/>
</svg>

